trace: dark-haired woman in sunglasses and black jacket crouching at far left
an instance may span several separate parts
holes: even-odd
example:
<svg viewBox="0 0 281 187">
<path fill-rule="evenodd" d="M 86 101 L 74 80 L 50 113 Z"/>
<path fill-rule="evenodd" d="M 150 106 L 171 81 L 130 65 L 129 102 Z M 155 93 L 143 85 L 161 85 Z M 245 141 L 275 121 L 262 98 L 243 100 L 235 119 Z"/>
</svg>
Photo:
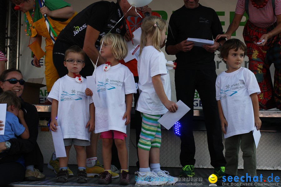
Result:
<svg viewBox="0 0 281 187">
<path fill-rule="evenodd" d="M 2 89 L 0 92 L 12 90 L 20 97 L 24 82 L 20 70 L 13 68 L 5 70 L 0 75 L 0 88 Z M 21 109 L 30 136 L 28 140 L 13 138 L 0 142 L 0 186 L 22 180 L 45 179 L 45 175 L 40 172 L 43 171 L 43 156 L 36 142 L 39 124 L 37 109 L 22 99 L 21 101 Z M 0 121 L 0 123 L 2 122 Z M 3 130 L 2 126 L 0 124 L 0 131 Z M 20 156 L 24 156 L 23 162 L 18 160 Z"/>
</svg>

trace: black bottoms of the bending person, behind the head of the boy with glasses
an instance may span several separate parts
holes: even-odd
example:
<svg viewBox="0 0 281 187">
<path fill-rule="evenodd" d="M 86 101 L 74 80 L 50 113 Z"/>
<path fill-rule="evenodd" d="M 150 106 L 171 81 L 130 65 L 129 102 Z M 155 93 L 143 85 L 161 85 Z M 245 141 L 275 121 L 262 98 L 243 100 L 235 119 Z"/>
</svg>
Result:
<svg viewBox="0 0 281 187">
<path fill-rule="evenodd" d="M 53 62 L 60 78 L 68 73 L 67 68 L 63 65 L 63 61 L 65 56 L 65 51 L 69 47 L 71 46 L 60 41 L 56 41 L 53 47 Z M 95 68 L 90 58 L 87 55 L 84 62 L 85 62 L 85 67 L 82 68 L 82 70 L 80 71 L 80 75 L 86 78 L 86 76 L 91 76 L 93 74 Z M 94 63 L 96 64 L 96 62 Z"/>
</svg>

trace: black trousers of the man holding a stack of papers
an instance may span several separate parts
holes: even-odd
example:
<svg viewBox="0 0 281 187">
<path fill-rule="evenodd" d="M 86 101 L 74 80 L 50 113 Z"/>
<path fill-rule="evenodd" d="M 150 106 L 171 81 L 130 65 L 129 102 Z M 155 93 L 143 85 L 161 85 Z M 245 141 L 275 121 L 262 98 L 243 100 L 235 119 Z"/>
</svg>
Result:
<svg viewBox="0 0 281 187">
<path fill-rule="evenodd" d="M 180 119 L 180 164 L 182 166 L 195 165 L 195 141 L 192 121 L 195 89 L 199 93 L 202 102 L 211 165 L 216 168 L 226 164 L 223 155 L 224 146 L 222 144 L 218 105 L 215 98 L 216 77 L 215 70 L 175 70 L 177 100 L 181 100 L 191 109 Z"/>
</svg>

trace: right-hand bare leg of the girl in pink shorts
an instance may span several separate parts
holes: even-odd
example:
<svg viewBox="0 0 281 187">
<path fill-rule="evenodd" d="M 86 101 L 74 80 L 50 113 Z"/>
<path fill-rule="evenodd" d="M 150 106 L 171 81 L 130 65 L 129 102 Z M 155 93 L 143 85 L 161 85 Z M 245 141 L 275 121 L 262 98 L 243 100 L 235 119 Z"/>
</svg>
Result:
<svg viewBox="0 0 281 187">
<path fill-rule="evenodd" d="M 118 158 L 121 165 L 121 170 L 128 169 L 128 151 L 126 147 L 126 140 L 114 139 L 118 151 Z"/>
</svg>

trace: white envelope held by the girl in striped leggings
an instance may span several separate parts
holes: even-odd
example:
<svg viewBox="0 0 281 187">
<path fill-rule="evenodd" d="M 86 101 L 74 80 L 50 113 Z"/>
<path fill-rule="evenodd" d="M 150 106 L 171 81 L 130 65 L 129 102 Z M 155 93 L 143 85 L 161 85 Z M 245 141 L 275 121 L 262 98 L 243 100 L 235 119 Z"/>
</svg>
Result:
<svg viewBox="0 0 281 187">
<path fill-rule="evenodd" d="M 178 110 L 175 113 L 168 111 L 158 120 L 158 122 L 168 130 L 190 110 L 181 100 L 176 104 L 178 105 Z"/>
</svg>

